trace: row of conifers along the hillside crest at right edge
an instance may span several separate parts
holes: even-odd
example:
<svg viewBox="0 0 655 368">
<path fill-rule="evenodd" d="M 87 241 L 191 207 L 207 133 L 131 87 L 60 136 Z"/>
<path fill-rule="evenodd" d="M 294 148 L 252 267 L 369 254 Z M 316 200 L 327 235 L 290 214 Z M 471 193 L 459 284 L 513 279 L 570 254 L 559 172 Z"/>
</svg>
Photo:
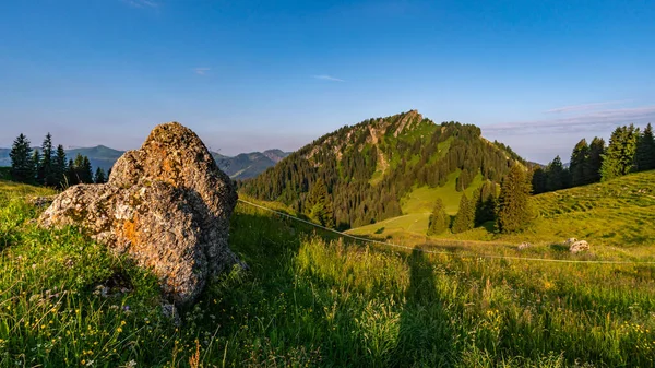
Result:
<svg viewBox="0 0 655 368">
<path fill-rule="evenodd" d="M 546 167 L 533 170 L 535 194 L 605 181 L 630 173 L 655 169 L 655 141 L 648 123 L 641 131 L 634 124 L 617 127 L 605 141 L 594 138 L 591 144 L 582 139 L 571 153 L 569 167 L 556 156 Z"/>
</svg>

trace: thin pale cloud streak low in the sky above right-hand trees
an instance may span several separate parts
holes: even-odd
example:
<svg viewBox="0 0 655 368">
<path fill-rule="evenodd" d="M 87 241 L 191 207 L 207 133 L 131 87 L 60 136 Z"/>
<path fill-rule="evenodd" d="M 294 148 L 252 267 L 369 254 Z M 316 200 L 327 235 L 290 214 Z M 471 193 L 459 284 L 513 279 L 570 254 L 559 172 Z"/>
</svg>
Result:
<svg viewBox="0 0 655 368">
<path fill-rule="evenodd" d="M 558 119 L 514 121 L 483 127 L 485 133 L 503 135 L 528 135 L 535 133 L 580 133 L 606 131 L 614 127 L 655 121 L 655 105 L 604 109 Z"/>
</svg>

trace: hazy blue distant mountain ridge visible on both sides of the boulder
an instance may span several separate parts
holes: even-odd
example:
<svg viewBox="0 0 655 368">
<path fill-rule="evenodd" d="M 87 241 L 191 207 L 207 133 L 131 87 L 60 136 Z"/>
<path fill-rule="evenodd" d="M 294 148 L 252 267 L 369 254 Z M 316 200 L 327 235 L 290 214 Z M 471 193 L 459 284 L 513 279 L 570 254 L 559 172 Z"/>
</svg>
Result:
<svg viewBox="0 0 655 368">
<path fill-rule="evenodd" d="M 10 151 L 10 149 L 0 149 L 0 166 L 11 166 Z M 105 145 L 66 150 L 69 159 L 74 159 L 78 154 L 81 154 L 88 157 L 94 169 L 102 167 L 105 171 L 109 170 L 123 153 L 124 151 L 114 150 Z M 212 152 L 218 167 L 235 180 L 253 178 L 289 154 L 289 152 L 282 150 L 267 150 L 242 153 L 233 157 Z"/>
</svg>

